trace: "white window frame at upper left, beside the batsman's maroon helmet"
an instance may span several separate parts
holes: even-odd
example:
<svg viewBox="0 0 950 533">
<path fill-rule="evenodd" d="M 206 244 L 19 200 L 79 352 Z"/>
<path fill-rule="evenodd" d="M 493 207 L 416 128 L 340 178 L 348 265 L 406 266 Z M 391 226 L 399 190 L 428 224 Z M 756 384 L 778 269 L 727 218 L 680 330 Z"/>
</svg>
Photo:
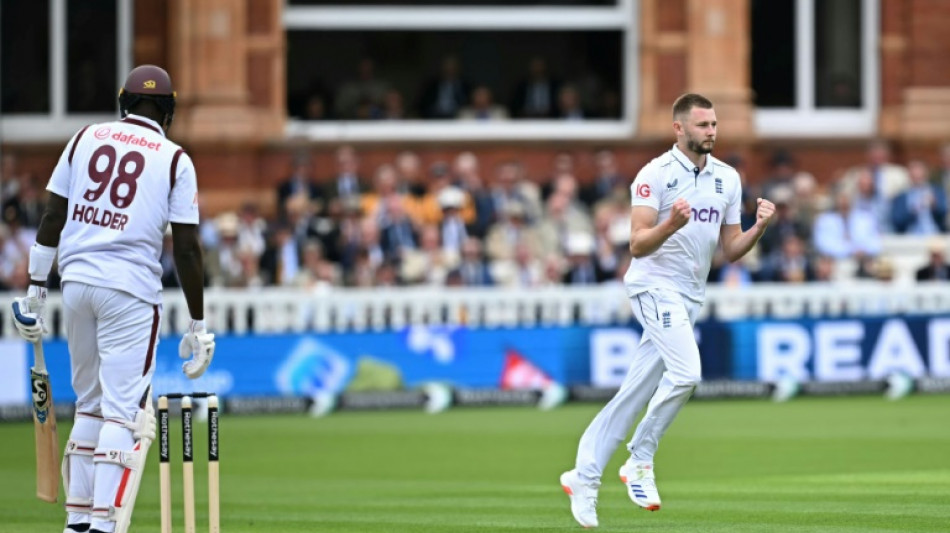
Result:
<svg viewBox="0 0 950 533">
<path fill-rule="evenodd" d="M 41 0 L 34 0 L 41 1 Z M 67 0 L 46 0 L 50 4 L 50 112 L 5 114 L 0 116 L 0 139 L 4 142 L 49 142 L 69 139 L 77 130 L 94 122 L 115 120 L 113 113 L 69 113 L 66 111 L 66 15 Z M 132 25 L 134 2 L 115 0 L 116 80 L 125 79 L 132 68 Z M 2 12 L 0 12 L 2 16 Z M 2 80 L 0 80 L 2 83 Z M 118 94 L 118 86 L 116 92 Z"/>
</svg>

